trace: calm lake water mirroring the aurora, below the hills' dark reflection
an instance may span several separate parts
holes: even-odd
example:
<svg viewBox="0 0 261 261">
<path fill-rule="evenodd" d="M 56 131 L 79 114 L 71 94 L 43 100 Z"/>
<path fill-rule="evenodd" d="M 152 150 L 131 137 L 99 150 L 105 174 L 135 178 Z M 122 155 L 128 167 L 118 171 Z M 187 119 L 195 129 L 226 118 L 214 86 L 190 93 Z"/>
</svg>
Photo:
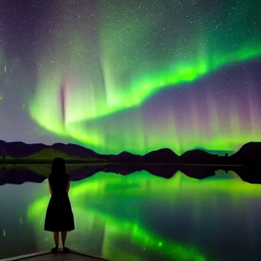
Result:
<svg viewBox="0 0 261 261">
<path fill-rule="evenodd" d="M 48 250 L 46 181 L 0 186 L 0 258 Z M 67 246 L 113 260 L 261 260 L 261 185 L 229 171 L 170 179 L 98 172 L 71 184 Z"/>
</svg>

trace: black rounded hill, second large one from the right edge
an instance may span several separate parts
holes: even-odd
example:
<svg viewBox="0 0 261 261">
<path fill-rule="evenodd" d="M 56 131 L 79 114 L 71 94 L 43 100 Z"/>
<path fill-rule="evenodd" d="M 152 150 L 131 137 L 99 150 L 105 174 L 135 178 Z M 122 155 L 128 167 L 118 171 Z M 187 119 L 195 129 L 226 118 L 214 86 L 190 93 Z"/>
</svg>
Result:
<svg viewBox="0 0 261 261">
<path fill-rule="evenodd" d="M 219 156 L 200 149 L 189 150 L 180 156 L 182 164 L 219 164 Z"/>
</svg>

